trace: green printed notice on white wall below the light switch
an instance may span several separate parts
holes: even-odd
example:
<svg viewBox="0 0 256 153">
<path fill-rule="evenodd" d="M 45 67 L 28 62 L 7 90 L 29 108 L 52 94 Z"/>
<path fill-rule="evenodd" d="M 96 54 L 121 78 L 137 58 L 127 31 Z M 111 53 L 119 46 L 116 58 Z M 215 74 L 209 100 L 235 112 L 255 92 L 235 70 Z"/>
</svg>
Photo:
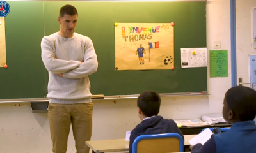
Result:
<svg viewBox="0 0 256 153">
<path fill-rule="evenodd" d="M 210 50 L 210 77 L 228 77 L 227 50 Z"/>
</svg>

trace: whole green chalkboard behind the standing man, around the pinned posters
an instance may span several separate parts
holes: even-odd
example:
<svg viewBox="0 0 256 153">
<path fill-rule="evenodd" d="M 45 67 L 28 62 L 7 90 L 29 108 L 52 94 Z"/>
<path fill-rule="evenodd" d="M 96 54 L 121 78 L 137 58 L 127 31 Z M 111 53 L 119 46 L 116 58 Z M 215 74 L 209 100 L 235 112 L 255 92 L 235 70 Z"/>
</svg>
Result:
<svg viewBox="0 0 256 153">
<path fill-rule="evenodd" d="M 6 55 L 0 68 L 0 99 L 42 98 L 48 75 L 40 57 L 40 41 L 60 29 L 58 11 L 65 4 L 78 10 L 76 32 L 89 36 L 99 69 L 90 75 L 92 94 L 129 95 L 145 90 L 159 93 L 207 91 L 207 68 L 181 68 L 180 48 L 206 47 L 205 2 L 8 1 Z M 43 5 L 44 3 L 44 5 Z M 20 11 L 20 5 L 27 10 Z M 44 10 L 44 11 L 43 11 Z M 175 22 L 175 69 L 115 71 L 115 22 Z M 3 74 L 3 75 L 2 75 Z"/>
</svg>

